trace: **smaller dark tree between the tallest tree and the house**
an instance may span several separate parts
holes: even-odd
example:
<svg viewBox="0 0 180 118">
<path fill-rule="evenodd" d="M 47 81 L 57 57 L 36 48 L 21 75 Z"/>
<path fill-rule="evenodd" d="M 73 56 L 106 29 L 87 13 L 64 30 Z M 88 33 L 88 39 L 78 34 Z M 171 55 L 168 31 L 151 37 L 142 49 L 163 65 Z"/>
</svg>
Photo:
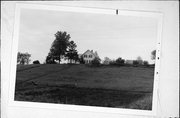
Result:
<svg viewBox="0 0 180 118">
<path fill-rule="evenodd" d="M 68 58 L 68 60 L 70 60 L 70 63 L 72 63 L 72 61 L 74 60 L 75 62 L 78 61 L 78 53 L 76 50 L 76 43 L 74 43 L 74 41 L 70 41 L 68 44 L 68 50 L 66 53 L 66 57 Z"/>
</svg>

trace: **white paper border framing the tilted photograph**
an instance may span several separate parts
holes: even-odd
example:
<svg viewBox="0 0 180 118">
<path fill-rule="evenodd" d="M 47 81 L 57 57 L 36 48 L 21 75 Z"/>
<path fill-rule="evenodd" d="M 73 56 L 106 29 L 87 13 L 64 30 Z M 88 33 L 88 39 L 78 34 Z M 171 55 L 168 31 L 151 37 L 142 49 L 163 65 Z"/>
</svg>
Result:
<svg viewBox="0 0 180 118">
<path fill-rule="evenodd" d="M 94 106 L 15 101 L 14 95 L 15 95 L 15 81 L 16 81 L 16 62 L 17 62 L 17 51 L 18 51 L 19 24 L 20 24 L 21 10 L 23 9 L 39 9 L 39 10 L 124 15 L 124 16 L 142 16 L 142 17 L 157 19 L 158 33 L 157 33 L 157 45 L 156 45 L 156 62 L 155 62 L 155 70 L 154 70 L 152 110 L 137 110 L 137 109 L 124 109 L 124 108 L 107 108 L 107 107 L 94 107 Z M 160 12 L 118 10 L 118 14 L 117 14 L 117 9 L 100 9 L 100 8 L 98 9 L 98 8 L 17 3 L 15 10 L 15 22 L 14 22 L 12 54 L 11 54 L 8 106 L 18 106 L 22 108 L 31 107 L 31 108 L 42 108 L 42 109 L 59 109 L 59 110 L 71 110 L 71 111 L 73 110 L 73 111 L 81 111 L 81 112 L 84 111 L 101 112 L 101 113 L 104 112 L 104 113 L 118 113 L 118 114 L 128 114 L 128 115 L 155 116 L 157 111 L 157 101 L 158 101 L 158 81 L 160 79 L 162 26 L 163 26 L 163 14 Z"/>
</svg>

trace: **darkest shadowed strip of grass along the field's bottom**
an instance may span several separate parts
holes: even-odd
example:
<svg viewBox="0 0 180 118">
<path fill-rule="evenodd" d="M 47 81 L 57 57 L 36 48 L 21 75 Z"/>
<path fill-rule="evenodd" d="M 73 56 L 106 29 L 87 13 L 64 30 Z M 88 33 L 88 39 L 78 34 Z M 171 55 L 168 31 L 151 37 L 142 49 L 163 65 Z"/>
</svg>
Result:
<svg viewBox="0 0 180 118">
<path fill-rule="evenodd" d="M 135 103 L 147 95 L 151 95 L 151 93 L 97 88 L 80 88 L 76 86 L 65 85 L 60 87 L 39 86 L 34 87 L 34 89 L 27 89 L 23 91 L 16 90 L 15 100 L 136 109 L 136 107 L 131 107 L 129 105 Z M 150 110 L 151 107 L 152 106 L 148 107 L 147 110 Z M 137 109 L 141 108 L 138 107 Z"/>
</svg>

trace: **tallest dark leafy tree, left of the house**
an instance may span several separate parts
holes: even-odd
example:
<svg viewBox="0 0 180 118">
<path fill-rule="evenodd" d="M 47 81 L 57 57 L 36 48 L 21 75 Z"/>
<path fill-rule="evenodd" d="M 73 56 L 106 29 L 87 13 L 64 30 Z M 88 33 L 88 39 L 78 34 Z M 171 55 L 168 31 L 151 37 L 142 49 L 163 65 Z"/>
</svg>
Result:
<svg viewBox="0 0 180 118">
<path fill-rule="evenodd" d="M 70 38 L 70 35 L 65 31 L 58 31 L 55 34 L 55 40 L 51 45 L 50 54 L 48 55 L 52 58 L 53 61 L 58 60 L 59 63 L 61 62 L 61 59 L 65 56 L 65 53 L 67 51 Z"/>
</svg>

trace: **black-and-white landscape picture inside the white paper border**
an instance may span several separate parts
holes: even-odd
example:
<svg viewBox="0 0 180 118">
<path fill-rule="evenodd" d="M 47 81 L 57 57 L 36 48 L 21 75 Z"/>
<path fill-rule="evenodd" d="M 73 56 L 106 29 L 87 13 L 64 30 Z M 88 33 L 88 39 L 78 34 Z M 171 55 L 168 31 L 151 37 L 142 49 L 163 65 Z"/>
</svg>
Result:
<svg viewBox="0 0 180 118">
<path fill-rule="evenodd" d="M 15 101 L 152 110 L 157 19 L 23 9 Z"/>
</svg>

